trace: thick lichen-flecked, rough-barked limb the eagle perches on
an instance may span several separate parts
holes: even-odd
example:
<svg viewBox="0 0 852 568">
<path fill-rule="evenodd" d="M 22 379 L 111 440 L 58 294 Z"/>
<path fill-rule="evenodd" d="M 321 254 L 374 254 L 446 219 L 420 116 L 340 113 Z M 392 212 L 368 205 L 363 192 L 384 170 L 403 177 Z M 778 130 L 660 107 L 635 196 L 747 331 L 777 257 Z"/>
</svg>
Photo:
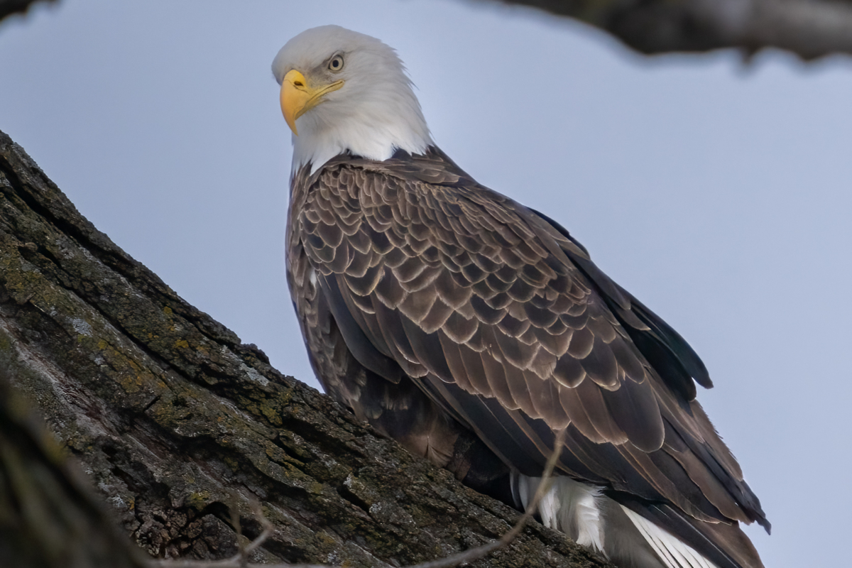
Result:
<svg viewBox="0 0 852 568">
<path fill-rule="evenodd" d="M 255 537 L 255 498 L 275 526 L 261 562 L 407 565 L 496 539 L 518 516 L 274 370 L 97 231 L 0 133 L 3 377 L 153 556 L 234 554 L 231 512 Z M 7 431 L 5 408 L 5 439 L 32 447 Z M 15 549 L 9 523 L 26 509 L 7 446 L 0 554 Z M 475 565 L 605 564 L 533 524 Z"/>
</svg>

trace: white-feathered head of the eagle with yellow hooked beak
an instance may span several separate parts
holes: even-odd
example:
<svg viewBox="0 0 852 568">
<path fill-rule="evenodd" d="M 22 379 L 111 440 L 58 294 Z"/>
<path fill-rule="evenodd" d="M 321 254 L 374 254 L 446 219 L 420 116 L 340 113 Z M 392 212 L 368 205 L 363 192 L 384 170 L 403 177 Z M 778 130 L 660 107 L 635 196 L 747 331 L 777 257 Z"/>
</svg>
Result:
<svg viewBox="0 0 852 568">
<path fill-rule="evenodd" d="M 272 63 L 293 131 L 293 170 L 341 152 L 386 160 L 432 144 L 402 61 L 375 37 L 340 26 L 300 33 Z"/>
</svg>

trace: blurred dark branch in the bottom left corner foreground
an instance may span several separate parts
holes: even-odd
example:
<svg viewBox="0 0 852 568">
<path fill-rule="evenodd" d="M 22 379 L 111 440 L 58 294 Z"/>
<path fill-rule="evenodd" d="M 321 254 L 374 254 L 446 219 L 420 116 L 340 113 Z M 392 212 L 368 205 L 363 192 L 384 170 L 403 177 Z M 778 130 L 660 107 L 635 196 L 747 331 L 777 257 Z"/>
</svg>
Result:
<svg viewBox="0 0 852 568">
<path fill-rule="evenodd" d="M 105 509 L 0 372 L 0 565 L 143 568 Z"/>
</svg>

